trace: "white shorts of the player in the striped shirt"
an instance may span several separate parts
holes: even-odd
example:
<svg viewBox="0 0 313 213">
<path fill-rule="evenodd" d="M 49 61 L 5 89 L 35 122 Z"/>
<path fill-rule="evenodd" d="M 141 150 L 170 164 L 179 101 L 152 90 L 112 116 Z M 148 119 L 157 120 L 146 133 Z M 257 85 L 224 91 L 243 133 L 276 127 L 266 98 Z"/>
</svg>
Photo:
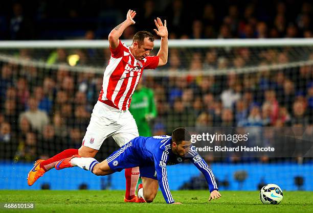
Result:
<svg viewBox="0 0 313 213">
<path fill-rule="evenodd" d="M 128 110 L 119 110 L 100 101 L 91 114 L 90 123 L 82 140 L 82 146 L 99 150 L 103 141 L 113 136 L 119 147 L 138 137 L 138 128 Z"/>
</svg>

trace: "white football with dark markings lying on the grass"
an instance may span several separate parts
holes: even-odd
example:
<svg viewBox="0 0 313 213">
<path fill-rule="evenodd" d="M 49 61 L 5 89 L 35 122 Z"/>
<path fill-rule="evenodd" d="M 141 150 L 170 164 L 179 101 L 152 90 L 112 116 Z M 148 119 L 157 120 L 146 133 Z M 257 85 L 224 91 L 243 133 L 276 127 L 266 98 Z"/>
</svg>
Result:
<svg viewBox="0 0 313 213">
<path fill-rule="evenodd" d="M 261 188 L 260 200 L 263 204 L 279 204 L 282 201 L 283 193 L 276 184 L 267 184 Z"/>
</svg>

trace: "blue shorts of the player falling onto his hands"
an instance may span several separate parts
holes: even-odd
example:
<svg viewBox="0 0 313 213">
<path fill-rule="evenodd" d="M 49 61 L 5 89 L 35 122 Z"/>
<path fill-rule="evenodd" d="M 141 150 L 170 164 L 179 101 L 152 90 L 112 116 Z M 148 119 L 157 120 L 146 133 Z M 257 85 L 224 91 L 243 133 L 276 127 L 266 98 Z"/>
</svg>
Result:
<svg viewBox="0 0 313 213">
<path fill-rule="evenodd" d="M 121 172 L 123 169 L 139 167 L 140 177 L 147 177 L 157 180 L 157 174 L 153 165 L 140 166 L 142 162 L 136 156 L 136 150 L 132 147 L 132 142 L 125 144 L 119 150 L 106 158 L 107 164 L 114 172 Z"/>
</svg>

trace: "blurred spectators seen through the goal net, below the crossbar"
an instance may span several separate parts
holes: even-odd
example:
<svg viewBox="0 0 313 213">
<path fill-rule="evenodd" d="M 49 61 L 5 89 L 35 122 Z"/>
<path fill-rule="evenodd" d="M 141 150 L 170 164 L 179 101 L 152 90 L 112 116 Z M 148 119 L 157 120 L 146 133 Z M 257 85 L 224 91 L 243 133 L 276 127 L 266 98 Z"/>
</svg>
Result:
<svg viewBox="0 0 313 213">
<path fill-rule="evenodd" d="M 170 134 L 178 126 L 306 127 L 313 124 L 313 66 L 247 74 L 181 76 L 177 69 L 180 57 L 175 56 L 176 52 L 176 49 L 170 51 L 167 69 L 177 75 L 142 78 L 142 83 L 153 89 L 157 104 L 158 116 L 151 123 L 154 135 Z M 308 57 L 313 59 L 313 54 Z M 262 63 L 288 60 L 288 53 L 277 52 L 268 59 L 272 62 L 264 58 Z M 211 65 L 215 67 L 218 57 L 214 60 Z M 236 60 L 239 59 L 234 59 L 229 66 L 236 66 Z M 206 65 L 203 60 L 195 63 Z M 192 64 L 190 62 L 191 67 L 196 66 Z M 218 69 L 218 65 L 215 68 Z M 2 62 L 2 157 L 34 160 L 38 155 L 48 157 L 67 147 L 79 148 L 102 78 L 103 74 L 71 72 L 65 66 L 55 70 Z"/>
</svg>

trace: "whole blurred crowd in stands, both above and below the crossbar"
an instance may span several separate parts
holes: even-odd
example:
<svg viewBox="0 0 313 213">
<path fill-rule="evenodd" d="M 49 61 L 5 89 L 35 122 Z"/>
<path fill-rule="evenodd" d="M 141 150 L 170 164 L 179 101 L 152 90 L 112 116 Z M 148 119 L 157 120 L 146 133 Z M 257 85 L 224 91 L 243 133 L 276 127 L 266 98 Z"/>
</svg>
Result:
<svg viewBox="0 0 313 213">
<path fill-rule="evenodd" d="M 42 2 L 47 7 L 51 4 L 49 1 Z M 43 7 L 43 3 L 38 4 Z M 151 26 L 145 24 L 158 14 L 157 4 L 157 1 L 145 1 L 140 9 L 141 16 L 138 15 L 138 26 L 128 28 L 123 38 L 131 39 L 138 29 L 149 29 Z M 174 0 L 169 5 L 163 3 L 163 7 L 164 14 L 170 14 L 170 38 L 312 37 L 313 11 L 310 3 L 294 3 L 297 7 L 293 8 L 293 4 L 275 2 L 271 3 L 275 7 L 270 12 L 259 4 L 261 3 L 226 4 L 222 10 L 221 5 L 201 3 L 203 7 L 197 6 L 201 11 L 196 14 L 193 12 L 190 16 L 194 19 L 189 19 L 186 15 L 189 6 L 186 1 Z M 14 32 L 14 25 L 18 25 L 18 14 L 24 14 L 23 7 L 25 6 L 22 4 L 14 4 L 14 15 L 6 16 L 10 17 L 10 25 L 7 26 L 10 33 L 5 38 L 26 38 L 20 38 L 18 32 Z M 42 10 L 42 19 L 53 17 L 47 8 L 44 10 L 43 7 Z M 75 9 L 68 12 L 73 18 L 77 18 L 77 13 L 79 14 Z M 108 8 L 106 12 L 98 12 L 99 16 L 109 19 L 121 11 Z M 64 18 L 69 15 L 66 11 L 61 14 Z M 0 20 L 1 18 L 3 16 L 0 15 Z M 32 18 L 22 20 L 26 22 Z M 21 25 L 24 25 L 23 21 L 20 22 Z M 104 28 L 112 27 L 113 25 Z M 107 32 L 107 29 L 84 32 L 85 39 L 104 38 L 100 32 Z M 264 49 L 257 55 L 249 48 L 233 49 L 231 52 L 222 49 L 184 52 L 171 48 L 168 64 L 163 69 L 176 72 L 177 75 L 142 78 L 143 84 L 153 89 L 158 109 L 157 119 L 151 123 L 153 135 L 170 134 L 174 128 L 180 126 L 312 126 L 312 65 L 272 70 L 265 68 L 246 74 L 229 72 L 210 76 L 179 75 L 181 69 L 190 72 L 230 67 L 240 69 L 255 65 L 255 61 L 258 61 L 257 65 L 284 64 L 297 57 L 313 60 L 311 49 L 296 53 L 298 54 L 287 48 Z M 105 49 L 76 50 L 76 54 L 80 56 L 79 65 L 103 66 L 110 53 Z M 30 50 L 20 50 L 18 55 L 23 59 L 42 57 L 38 56 L 38 52 L 33 53 Z M 66 50 L 58 49 L 44 55 L 44 60 L 48 64 L 67 63 L 68 55 Z M 31 64 L 13 62 L 0 62 L 0 72 L 1 159 L 33 161 L 38 157 L 48 158 L 69 147 L 81 146 L 93 106 L 101 90 L 103 74 L 72 72 L 65 66 L 59 66 L 58 69 L 38 68 Z M 104 157 L 117 148 L 111 140 L 104 143 L 104 146 Z"/>
</svg>

